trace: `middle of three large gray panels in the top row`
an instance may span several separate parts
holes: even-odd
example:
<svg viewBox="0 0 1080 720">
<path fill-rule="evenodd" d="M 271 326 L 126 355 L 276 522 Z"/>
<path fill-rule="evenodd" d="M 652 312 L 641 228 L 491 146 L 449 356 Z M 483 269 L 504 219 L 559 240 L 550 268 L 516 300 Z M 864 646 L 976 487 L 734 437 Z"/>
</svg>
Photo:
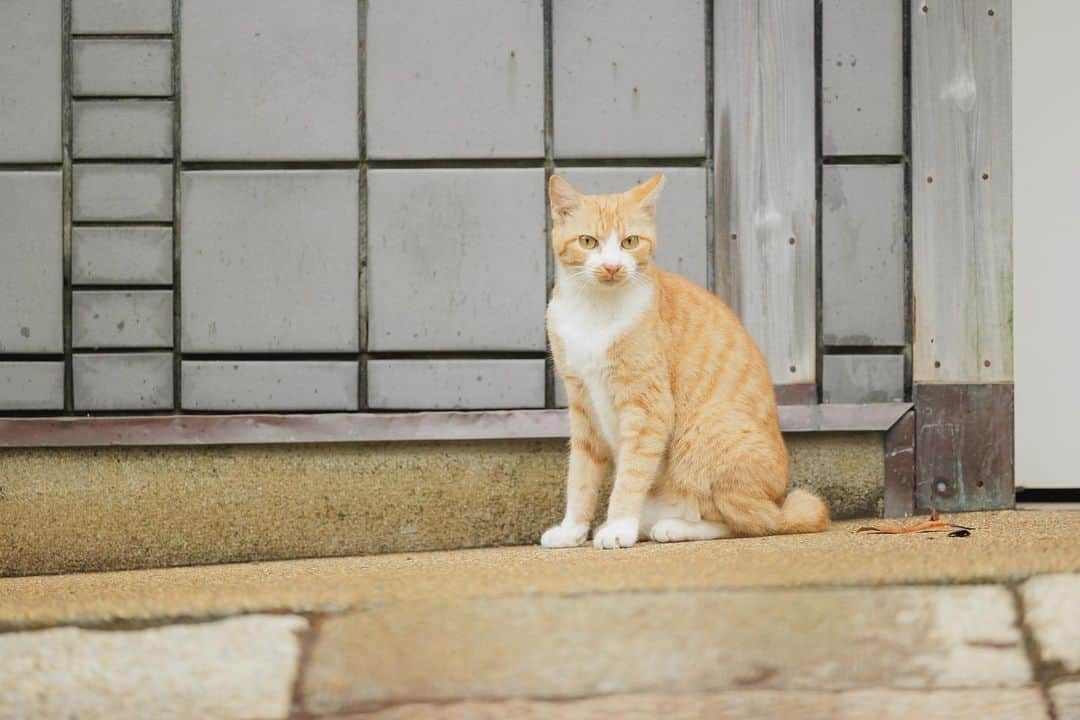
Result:
<svg viewBox="0 0 1080 720">
<path fill-rule="evenodd" d="M 373 158 L 543 155 L 542 4 L 372 0 Z"/>
</svg>

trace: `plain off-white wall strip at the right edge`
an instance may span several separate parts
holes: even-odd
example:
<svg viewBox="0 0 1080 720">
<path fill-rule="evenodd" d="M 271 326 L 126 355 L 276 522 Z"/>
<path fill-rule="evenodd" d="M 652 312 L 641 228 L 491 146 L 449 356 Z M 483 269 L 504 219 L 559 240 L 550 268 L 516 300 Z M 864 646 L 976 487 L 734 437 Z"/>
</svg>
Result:
<svg viewBox="0 0 1080 720">
<path fill-rule="evenodd" d="M 1017 3 L 1013 26 L 1016 261 L 1016 485 L 1077 488 L 1072 447 L 1080 356 L 1080 47 L 1067 0 Z"/>
</svg>

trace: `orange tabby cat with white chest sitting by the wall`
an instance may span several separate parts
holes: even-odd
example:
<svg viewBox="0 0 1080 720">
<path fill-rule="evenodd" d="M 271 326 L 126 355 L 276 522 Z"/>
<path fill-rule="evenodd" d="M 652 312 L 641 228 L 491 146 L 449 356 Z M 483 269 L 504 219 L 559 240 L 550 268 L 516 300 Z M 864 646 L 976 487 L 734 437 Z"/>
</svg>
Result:
<svg viewBox="0 0 1080 720">
<path fill-rule="evenodd" d="M 653 262 L 663 176 L 622 194 L 549 194 L 557 282 L 548 334 L 570 409 L 566 516 L 545 547 L 581 545 L 609 464 L 596 547 L 816 532 L 828 508 L 787 492 L 787 450 L 761 352 L 707 290 Z"/>
</svg>

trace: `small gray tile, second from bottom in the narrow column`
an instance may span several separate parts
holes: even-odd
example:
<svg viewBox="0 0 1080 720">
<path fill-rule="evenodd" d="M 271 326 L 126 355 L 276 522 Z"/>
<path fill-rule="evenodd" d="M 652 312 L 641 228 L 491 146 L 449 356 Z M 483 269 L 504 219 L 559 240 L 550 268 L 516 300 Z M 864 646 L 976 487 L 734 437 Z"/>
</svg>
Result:
<svg viewBox="0 0 1080 720">
<path fill-rule="evenodd" d="M 172 348 L 172 290 L 79 290 L 71 295 L 75 348 Z"/>
</svg>

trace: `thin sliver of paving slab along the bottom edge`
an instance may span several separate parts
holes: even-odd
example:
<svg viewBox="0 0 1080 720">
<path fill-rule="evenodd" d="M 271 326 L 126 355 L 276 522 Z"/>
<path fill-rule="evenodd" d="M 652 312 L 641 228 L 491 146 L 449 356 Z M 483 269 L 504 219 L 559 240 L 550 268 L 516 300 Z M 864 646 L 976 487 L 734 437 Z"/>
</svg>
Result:
<svg viewBox="0 0 1080 720">
<path fill-rule="evenodd" d="M 1043 720 L 1038 689 L 851 690 L 838 693 L 747 690 L 684 695 L 643 693 L 586 699 L 409 704 L 334 720 Z M 1058 714 L 1058 720 L 1065 720 Z M 1080 716 L 1076 716 L 1080 717 Z"/>
</svg>

